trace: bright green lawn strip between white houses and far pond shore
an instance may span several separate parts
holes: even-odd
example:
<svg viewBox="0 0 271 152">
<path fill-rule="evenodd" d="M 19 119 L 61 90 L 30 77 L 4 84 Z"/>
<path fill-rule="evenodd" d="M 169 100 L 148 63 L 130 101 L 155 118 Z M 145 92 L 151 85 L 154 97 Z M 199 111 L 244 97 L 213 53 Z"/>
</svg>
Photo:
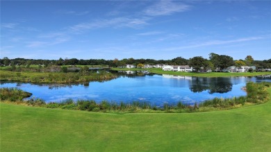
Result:
<svg viewBox="0 0 271 152">
<path fill-rule="evenodd" d="M 141 70 L 147 70 L 154 74 L 169 74 L 169 75 L 175 75 L 175 76 L 199 76 L 199 77 L 220 77 L 220 76 L 261 76 L 261 75 L 267 75 L 271 74 L 270 71 L 264 71 L 264 72 L 234 72 L 234 73 L 228 73 L 228 72 L 210 72 L 210 73 L 195 73 L 195 72 L 182 72 L 182 71 L 163 71 L 161 68 L 150 68 L 150 69 L 128 69 L 128 68 L 113 68 L 113 70 L 116 71 L 141 71 Z"/>
</svg>

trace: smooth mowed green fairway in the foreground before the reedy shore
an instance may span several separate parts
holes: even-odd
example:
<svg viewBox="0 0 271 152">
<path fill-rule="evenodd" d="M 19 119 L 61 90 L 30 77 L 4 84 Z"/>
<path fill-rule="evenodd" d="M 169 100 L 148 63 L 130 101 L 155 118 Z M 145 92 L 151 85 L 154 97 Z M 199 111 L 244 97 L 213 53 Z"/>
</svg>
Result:
<svg viewBox="0 0 271 152">
<path fill-rule="evenodd" d="M 0 105 L 0 151 L 271 151 L 271 101 L 215 112 L 125 115 Z"/>
</svg>

